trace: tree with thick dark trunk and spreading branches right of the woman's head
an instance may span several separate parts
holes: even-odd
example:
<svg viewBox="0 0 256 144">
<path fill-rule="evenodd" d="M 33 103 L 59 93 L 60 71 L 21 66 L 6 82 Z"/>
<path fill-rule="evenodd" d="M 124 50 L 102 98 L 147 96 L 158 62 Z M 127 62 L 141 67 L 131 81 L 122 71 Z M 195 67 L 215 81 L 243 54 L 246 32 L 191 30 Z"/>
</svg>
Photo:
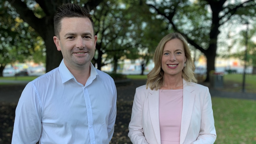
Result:
<svg viewBox="0 0 256 144">
<path fill-rule="evenodd" d="M 160 18 L 168 21 L 169 29 L 181 33 L 187 41 L 200 50 L 207 58 L 207 77 L 215 70 L 217 40 L 220 26 L 235 16 L 255 16 L 255 1 L 247 0 L 176 0 L 146 1 Z"/>
</svg>

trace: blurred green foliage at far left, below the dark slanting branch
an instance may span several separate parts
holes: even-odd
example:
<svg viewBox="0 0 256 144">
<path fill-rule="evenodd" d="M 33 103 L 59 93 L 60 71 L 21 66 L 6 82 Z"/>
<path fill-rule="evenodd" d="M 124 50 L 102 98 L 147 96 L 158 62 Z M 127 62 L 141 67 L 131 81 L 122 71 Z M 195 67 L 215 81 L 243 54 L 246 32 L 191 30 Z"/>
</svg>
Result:
<svg viewBox="0 0 256 144">
<path fill-rule="evenodd" d="M 6 64 L 16 61 L 44 60 L 44 44 L 41 37 L 27 23 L 18 17 L 8 3 L 2 3 L 0 7 L 0 76 Z"/>
</svg>

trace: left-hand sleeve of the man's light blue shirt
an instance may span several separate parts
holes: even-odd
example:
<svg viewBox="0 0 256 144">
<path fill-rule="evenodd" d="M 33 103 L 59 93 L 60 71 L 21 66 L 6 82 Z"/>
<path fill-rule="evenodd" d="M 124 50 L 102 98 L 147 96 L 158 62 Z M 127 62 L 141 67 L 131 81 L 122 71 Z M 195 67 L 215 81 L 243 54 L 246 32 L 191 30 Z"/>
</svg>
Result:
<svg viewBox="0 0 256 144">
<path fill-rule="evenodd" d="M 42 110 L 33 83 L 24 88 L 15 111 L 12 144 L 37 143 L 42 131 Z"/>
</svg>

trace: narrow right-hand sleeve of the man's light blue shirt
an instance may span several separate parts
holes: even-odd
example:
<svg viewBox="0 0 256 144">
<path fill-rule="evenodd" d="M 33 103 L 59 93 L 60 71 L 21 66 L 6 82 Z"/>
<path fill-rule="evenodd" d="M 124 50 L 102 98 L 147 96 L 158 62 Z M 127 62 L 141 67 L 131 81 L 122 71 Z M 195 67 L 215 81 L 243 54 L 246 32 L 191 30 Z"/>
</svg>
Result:
<svg viewBox="0 0 256 144">
<path fill-rule="evenodd" d="M 114 81 L 112 81 L 112 88 L 113 88 L 113 99 L 112 99 L 112 107 L 108 117 L 108 140 L 110 141 L 113 137 L 114 133 L 114 126 L 116 122 L 116 85 Z"/>
</svg>

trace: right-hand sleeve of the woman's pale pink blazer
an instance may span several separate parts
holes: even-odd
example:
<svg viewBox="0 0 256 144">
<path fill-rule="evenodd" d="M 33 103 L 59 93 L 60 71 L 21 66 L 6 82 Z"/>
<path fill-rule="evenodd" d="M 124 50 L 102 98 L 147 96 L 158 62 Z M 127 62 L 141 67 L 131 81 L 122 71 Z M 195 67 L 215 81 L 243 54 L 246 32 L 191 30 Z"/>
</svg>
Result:
<svg viewBox="0 0 256 144">
<path fill-rule="evenodd" d="M 206 87 L 206 94 L 203 100 L 201 113 L 201 126 L 197 140 L 192 144 L 213 144 L 216 140 L 216 130 L 214 126 L 214 117 L 211 103 L 211 95 L 208 87 Z"/>
</svg>

